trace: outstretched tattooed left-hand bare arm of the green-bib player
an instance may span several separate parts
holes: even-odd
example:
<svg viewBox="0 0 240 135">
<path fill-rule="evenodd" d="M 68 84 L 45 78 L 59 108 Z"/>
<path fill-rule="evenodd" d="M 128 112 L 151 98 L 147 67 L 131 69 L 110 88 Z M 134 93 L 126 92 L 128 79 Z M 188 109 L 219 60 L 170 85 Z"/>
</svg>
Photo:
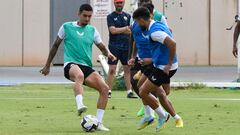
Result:
<svg viewBox="0 0 240 135">
<path fill-rule="evenodd" d="M 43 75 L 46 76 L 49 74 L 52 60 L 55 57 L 57 50 L 58 50 L 59 46 L 61 45 L 61 42 L 62 42 L 62 39 L 57 36 L 57 38 L 54 41 L 53 46 L 49 52 L 47 62 L 45 64 L 45 66 L 43 67 L 43 69 L 40 70 L 40 73 L 42 73 Z"/>
</svg>

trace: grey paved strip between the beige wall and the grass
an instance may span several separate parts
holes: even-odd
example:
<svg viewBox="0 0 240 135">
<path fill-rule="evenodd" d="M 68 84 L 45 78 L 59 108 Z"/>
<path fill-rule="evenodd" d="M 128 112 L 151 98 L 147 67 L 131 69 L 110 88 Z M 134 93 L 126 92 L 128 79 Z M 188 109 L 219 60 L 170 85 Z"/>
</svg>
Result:
<svg viewBox="0 0 240 135">
<path fill-rule="evenodd" d="M 101 68 L 95 68 L 101 71 Z M 39 73 L 40 67 L 0 67 L 0 85 L 18 83 L 69 83 L 62 67 L 52 67 L 49 76 Z M 181 67 L 173 81 L 231 82 L 237 78 L 236 67 Z"/>
</svg>

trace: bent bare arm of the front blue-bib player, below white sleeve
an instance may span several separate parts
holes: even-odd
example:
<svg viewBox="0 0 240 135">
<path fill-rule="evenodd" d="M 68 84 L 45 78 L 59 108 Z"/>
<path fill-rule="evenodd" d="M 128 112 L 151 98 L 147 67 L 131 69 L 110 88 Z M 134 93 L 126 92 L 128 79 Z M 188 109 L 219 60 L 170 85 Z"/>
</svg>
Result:
<svg viewBox="0 0 240 135">
<path fill-rule="evenodd" d="M 164 72 L 166 74 L 169 74 L 169 71 L 173 64 L 174 56 L 176 55 L 176 42 L 173 39 L 171 39 L 170 37 L 166 37 L 164 40 L 164 44 L 169 49 L 169 60 L 168 60 L 168 64 L 164 68 Z"/>
</svg>

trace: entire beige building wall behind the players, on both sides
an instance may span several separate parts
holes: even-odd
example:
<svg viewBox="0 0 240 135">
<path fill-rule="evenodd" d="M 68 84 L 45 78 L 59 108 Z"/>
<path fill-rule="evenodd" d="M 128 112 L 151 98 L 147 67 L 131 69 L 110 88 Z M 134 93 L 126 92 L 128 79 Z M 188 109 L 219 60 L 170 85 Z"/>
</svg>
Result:
<svg viewBox="0 0 240 135">
<path fill-rule="evenodd" d="M 226 31 L 226 27 L 234 21 L 237 0 L 153 2 L 167 16 L 177 41 L 181 65 L 236 64 L 231 54 L 233 30 Z M 125 7 L 125 11 L 130 10 L 130 6 Z M 50 48 L 50 0 L 1 0 L 0 16 L 3 20 L 0 21 L 0 66 L 43 65 Z M 92 24 L 107 45 L 106 19 L 93 18 Z M 98 54 L 100 52 L 94 47 L 95 65 Z"/>
</svg>

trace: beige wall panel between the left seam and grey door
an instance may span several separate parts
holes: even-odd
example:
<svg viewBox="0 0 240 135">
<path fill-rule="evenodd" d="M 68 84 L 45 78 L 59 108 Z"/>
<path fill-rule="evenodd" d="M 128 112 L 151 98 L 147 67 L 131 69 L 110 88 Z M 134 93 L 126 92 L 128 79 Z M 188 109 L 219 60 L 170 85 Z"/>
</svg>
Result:
<svg viewBox="0 0 240 135">
<path fill-rule="evenodd" d="M 43 65 L 49 53 L 49 0 L 24 0 L 23 65 Z"/>
</svg>

